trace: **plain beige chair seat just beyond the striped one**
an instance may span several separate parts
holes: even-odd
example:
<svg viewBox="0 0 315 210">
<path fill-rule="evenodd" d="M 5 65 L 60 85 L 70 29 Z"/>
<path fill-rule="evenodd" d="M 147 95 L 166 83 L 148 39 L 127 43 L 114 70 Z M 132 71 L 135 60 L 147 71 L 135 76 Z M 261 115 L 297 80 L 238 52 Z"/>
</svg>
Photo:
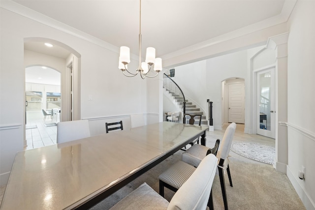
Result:
<svg viewBox="0 0 315 210">
<path fill-rule="evenodd" d="M 197 167 L 201 160 L 207 155 L 208 147 L 195 144 L 182 154 L 182 160 Z"/>
</svg>

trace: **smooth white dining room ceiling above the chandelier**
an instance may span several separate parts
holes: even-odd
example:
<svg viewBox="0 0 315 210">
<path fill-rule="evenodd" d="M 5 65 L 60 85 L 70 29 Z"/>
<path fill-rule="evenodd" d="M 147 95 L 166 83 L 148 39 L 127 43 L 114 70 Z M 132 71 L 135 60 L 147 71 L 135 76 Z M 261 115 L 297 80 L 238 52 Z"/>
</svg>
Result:
<svg viewBox="0 0 315 210">
<path fill-rule="evenodd" d="M 139 0 L 14 1 L 138 55 Z M 284 0 L 142 0 L 142 50 L 155 47 L 161 57 L 278 16 L 283 6 Z"/>
</svg>

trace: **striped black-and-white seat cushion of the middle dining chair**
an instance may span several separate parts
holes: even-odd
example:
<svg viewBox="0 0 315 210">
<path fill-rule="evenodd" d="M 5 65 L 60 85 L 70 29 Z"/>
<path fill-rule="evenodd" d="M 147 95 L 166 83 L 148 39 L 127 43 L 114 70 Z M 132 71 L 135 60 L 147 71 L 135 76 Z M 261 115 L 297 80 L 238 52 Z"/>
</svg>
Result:
<svg viewBox="0 0 315 210">
<path fill-rule="evenodd" d="M 183 161 L 178 161 L 168 170 L 163 172 L 158 179 L 179 189 L 195 170 L 195 167 Z"/>
</svg>

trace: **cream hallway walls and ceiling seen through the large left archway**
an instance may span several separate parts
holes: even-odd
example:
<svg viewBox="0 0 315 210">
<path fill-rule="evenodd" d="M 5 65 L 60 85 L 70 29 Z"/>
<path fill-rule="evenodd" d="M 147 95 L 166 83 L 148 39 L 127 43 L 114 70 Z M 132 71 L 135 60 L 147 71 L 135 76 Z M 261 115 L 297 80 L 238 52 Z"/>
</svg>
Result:
<svg viewBox="0 0 315 210">
<path fill-rule="evenodd" d="M 46 46 L 45 43 L 51 44 L 52 47 Z M 25 67 L 46 66 L 60 72 L 60 121 L 78 120 L 81 118 L 79 88 L 81 79 L 80 57 L 78 52 L 57 40 L 42 37 L 24 39 Z M 54 93 L 57 91 L 46 92 L 50 92 L 49 94 L 52 94 L 51 96 L 53 97 L 56 96 Z M 45 100 L 47 100 L 47 95 L 45 97 Z M 50 100 L 56 99 L 52 97 L 50 97 Z M 56 105 L 54 102 L 49 104 L 50 106 Z M 43 108 L 50 109 L 51 107 Z M 27 119 L 27 116 L 25 118 Z M 26 141 L 24 142 L 24 146 L 27 146 Z"/>
</svg>

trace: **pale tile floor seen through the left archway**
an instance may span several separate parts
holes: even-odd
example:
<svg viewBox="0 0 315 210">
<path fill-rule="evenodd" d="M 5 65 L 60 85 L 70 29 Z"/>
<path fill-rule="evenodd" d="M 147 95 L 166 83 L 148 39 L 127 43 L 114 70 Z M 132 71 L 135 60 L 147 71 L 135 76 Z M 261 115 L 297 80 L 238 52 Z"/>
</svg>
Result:
<svg viewBox="0 0 315 210">
<path fill-rule="evenodd" d="M 26 129 L 25 150 L 40 148 L 57 144 L 57 124 L 55 126 L 45 126 L 54 123 L 51 120 L 36 120 L 27 125 L 37 125 L 37 128 Z"/>
</svg>

